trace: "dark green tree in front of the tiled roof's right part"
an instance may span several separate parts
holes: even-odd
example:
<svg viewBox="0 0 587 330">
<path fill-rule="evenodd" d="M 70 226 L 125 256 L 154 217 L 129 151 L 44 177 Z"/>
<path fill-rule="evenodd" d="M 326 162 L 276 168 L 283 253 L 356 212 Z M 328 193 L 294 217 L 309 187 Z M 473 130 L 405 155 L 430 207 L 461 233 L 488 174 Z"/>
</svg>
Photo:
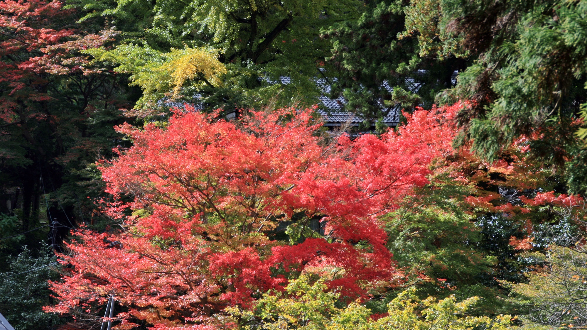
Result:
<svg viewBox="0 0 587 330">
<path fill-rule="evenodd" d="M 467 64 L 458 38 L 440 35 L 440 18 L 437 0 L 366 1 L 359 18 L 323 31 L 333 45 L 329 63 L 339 70 L 332 96 L 342 94 L 349 112 L 372 121 L 397 106 L 431 107 Z"/>
</svg>

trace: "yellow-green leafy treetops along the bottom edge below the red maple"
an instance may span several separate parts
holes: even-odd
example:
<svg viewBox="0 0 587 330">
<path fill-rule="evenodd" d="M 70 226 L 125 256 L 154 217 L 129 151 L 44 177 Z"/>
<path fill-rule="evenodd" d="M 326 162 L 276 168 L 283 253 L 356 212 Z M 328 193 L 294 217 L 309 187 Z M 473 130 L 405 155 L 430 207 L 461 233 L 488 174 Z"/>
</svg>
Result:
<svg viewBox="0 0 587 330">
<path fill-rule="evenodd" d="M 469 316 L 468 310 L 479 301 L 463 301 L 451 295 L 438 301 L 421 300 L 411 287 L 387 305 L 387 316 L 373 319 L 372 311 L 357 300 L 339 308 L 340 294 L 328 290 L 322 280 L 311 281 L 301 275 L 285 293 L 268 292 L 254 311 L 228 309 L 243 330 L 505 330 L 513 329 L 510 315 Z"/>
</svg>

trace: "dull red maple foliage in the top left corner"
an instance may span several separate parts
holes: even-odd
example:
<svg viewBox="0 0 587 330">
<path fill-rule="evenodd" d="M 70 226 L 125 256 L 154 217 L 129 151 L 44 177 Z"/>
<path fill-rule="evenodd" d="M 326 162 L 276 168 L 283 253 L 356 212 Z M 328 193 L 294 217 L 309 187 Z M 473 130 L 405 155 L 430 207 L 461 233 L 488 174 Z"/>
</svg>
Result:
<svg viewBox="0 0 587 330">
<path fill-rule="evenodd" d="M 114 32 L 80 34 L 71 28 L 73 14 L 59 1 L 0 1 L 0 84 L 9 87 L 1 95 L 4 126 L 50 117 L 36 105 L 51 99 L 49 75 L 88 76 L 104 70 L 90 65 L 80 50 L 102 46 Z"/>
</svg>

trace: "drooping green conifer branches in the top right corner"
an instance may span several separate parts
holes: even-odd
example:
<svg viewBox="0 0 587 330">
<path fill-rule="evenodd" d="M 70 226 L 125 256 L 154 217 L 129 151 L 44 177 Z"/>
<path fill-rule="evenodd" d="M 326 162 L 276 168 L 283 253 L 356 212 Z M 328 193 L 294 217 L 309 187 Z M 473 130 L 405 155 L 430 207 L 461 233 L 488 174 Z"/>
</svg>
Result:
<svg viewBox="0 0 587 330">
<path fill-rule="evenodd" d="M 457 143 L 470 140 L 495 160 L 513 140 L 532 137 L 534 156 L 566 167 L 571 191 L 584 193 L 587 151 L 573 120 L 587 100 L 587 2 L 442 0 L 441 8 L 443 33 L 461 36 L 475 56 L 456 89 L 439 97 L 471 101 Z"/>
</svg>

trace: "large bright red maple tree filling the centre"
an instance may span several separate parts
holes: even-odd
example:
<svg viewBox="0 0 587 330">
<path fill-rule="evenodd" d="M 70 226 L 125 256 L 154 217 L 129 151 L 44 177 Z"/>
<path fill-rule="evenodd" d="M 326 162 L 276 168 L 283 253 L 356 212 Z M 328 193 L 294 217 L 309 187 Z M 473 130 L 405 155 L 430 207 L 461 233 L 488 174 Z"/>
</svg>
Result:
<svg viewBox="0 0 587 330">
<path fill-rule="evenodd" d="M 312 109 L 233 123 L 188 108 L 164 127 L 124 125 L 134 146 L 102 164 L 109 193 L 134 198 L 109 210 L 124 231 L 78 233 L 48 310 L 82 318 L 113 294 L 120 329 L 212 329 L 225 307 L 250 307 L 300 272 L 348 297 L 396 285 L 377 216 L 429 183 L 431 162 L 452 152 L 443 123 L 459 108 L 418 110 L 397 132 L 333 144 Z M 286 225 L 290 244 L 275 240 Z"/>
</svg>

